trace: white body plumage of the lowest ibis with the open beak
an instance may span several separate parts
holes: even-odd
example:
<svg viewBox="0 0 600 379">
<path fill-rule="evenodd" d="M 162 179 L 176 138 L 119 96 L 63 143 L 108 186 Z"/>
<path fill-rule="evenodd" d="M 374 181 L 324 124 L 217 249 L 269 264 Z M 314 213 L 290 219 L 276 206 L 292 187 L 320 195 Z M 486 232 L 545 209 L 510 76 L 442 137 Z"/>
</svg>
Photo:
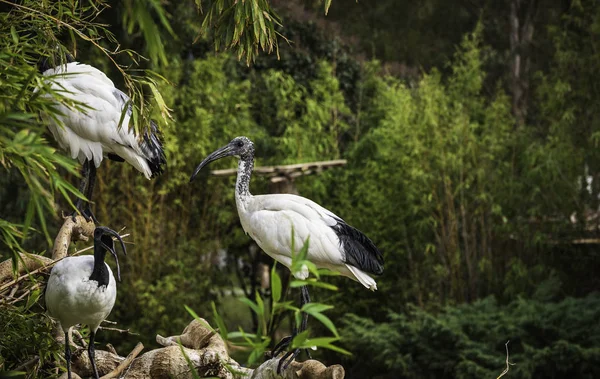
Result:
<svg viewBox="0 0 600 379">
<path fill-rule="evenodd" d="M 98 329 L 115 305 L 117 285 L 110 267 L 108 285 L 91 280 L 94 256 L 68 257 L 58 262 L 46 287 L 46 308 L 66 332 L 76 324 Z"/>
</svg>

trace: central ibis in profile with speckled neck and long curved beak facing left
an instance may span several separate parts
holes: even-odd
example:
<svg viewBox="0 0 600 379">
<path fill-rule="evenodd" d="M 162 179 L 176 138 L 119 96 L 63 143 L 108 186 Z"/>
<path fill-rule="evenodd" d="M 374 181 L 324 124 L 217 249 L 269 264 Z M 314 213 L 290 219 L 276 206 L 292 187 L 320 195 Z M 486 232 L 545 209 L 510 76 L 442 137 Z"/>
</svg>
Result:
<svg viewBox="0 0 600 379">
<path fill-rule="evenodd" d="M 342 218 L 319 204 L 301 196 L 271 194 L 253 196 L 250 194 L 250 176 L 254 168 L 254 144 L 246 137 L 236 137 L 229 144 L 217 149 L 206 157 L 190 178 L 194 180 L 198 172 L 210 162 L 235 156 L 239 159 L 235 187 L 235 202 L 244 231 L 256 241 L 258 246 L 276 261 L 288 268 L 292 263 L 292 235 L 297 246 L 302 246 L 310 237 L 307 259 L 318 268 L 327 268 L 356 280 L 370 290 L 377 284 L 369 274 L 383 273 L 383 255 L 373 242 L 358 229 L 346 224 Z M 298 279 L 306 279 L 308 270 L 304 267 L 294 272 Z M 309 302 L 308 288 L 302 287 L 301 305 Z M 300 332 L 306 328 L 306 318 Z M 293 337 L 293 336 L 292 336 Z M 289 345 L 287 337 L 275 347 L 273 355 L 282 346 Z M 279 363 L 287 359 L 291 362 L 298 350 L 287 353 Z"/>
</svg>

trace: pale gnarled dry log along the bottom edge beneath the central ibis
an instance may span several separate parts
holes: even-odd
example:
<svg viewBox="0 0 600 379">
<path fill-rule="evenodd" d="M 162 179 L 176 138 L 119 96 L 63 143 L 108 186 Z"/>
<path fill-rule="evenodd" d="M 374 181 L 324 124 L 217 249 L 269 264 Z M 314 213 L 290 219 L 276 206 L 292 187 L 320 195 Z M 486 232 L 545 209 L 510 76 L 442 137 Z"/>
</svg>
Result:
<svg viewBox="0 0 600 379">
<path fill-rule="evenodd" d="M 165 347 L 150 350 L 136 357 L 143 346 L 138 344 L 127 358 L 113 352 L 96 350 L 96 363 L 103 379 L 191 379 L 192 372 L 186 360 L 190 360 L 200 377 L 223 379 L 343 379 L 344 368 L 340 365 L 326 367 L 316 360 L 292 362 L 281 375 L 276 372 L 278 358 L 264 362 L 255 370 L 242 367 L 229 357 L 225 341 L 204 320 L 193 320 L 180 335 L 156 340 Z M 184 356 L 185 354 L 185 356 Z M 91 374 L 90 361 L 85 349 L 73 354 L 73 372 L 86 377 Z"/>
</svg>

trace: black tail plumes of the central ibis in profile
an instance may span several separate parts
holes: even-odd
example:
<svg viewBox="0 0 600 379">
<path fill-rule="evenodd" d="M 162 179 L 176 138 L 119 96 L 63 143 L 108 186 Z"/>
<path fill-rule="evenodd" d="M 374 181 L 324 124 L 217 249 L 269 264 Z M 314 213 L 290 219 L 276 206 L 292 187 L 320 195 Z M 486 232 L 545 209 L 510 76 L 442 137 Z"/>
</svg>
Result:
<svg viewBox="0 0 600 379">
<path fill-rule="evenodd" d="M 369 237 L 341 219 L 331 228 L 340 240 L 347 264 L 369 274 L 383 274 L 383 255 Z"/>
</svg>

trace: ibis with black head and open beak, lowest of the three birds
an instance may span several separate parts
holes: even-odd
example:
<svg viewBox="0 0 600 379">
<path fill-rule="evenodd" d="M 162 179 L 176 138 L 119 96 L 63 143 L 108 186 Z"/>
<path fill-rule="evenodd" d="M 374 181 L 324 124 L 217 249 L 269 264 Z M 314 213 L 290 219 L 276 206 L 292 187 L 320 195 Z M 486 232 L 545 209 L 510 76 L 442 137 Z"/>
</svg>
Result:
<svg viewBox="0 0 600 379">
<path fill-rule="evenodd" d="M 69 330 L 76 324 L 90 328 L 88 354 L 96 379 L 99 378 L 94 359 L 94 337 L 100 323 L 106 319 L 115 304 L 117 285 L 113 273 L 104 262 L 109 251 L 117 261 L 117 278 L 121 280 L 119 259 L 111 236 L 115 236 L 123 254 L 125 244 L 117 232 L 99 226 L 94 230 L 94 255 L 67 257 L 58 262 L 50 272 L 46 285 L 46 309 L 58 320 L 65 333 L 65 359 L 68 377 L 71 379 L 71 349 Z"/>
</svg>

